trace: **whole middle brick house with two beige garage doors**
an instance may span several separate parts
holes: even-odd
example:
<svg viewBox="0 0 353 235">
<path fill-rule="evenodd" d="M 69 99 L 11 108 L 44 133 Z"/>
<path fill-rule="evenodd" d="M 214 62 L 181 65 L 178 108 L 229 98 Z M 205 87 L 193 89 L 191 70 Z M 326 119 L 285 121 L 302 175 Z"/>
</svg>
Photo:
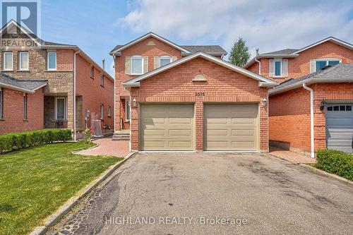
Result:
<svg viewBox="0 0 353 235">
<path fill-rule="evenodd" d="M 268 88 L 277 83 L 222 60 L 221 47 L 150 32 L 111 54 L 114 135 L 128 130 L 131 150 L 268 152 Z"/>
</svg>

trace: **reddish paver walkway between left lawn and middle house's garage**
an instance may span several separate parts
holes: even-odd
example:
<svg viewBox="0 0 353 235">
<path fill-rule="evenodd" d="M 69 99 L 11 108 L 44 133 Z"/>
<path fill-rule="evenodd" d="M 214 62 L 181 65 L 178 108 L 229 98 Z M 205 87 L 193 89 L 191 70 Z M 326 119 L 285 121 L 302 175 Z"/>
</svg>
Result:
<svg viewBox="0 0 353 235">
<path fill-rule="evenodd" d="M 94 140 L 97 147 L 77 152 L 80 155 L 109 155 L 116 157 L 125 157 L 130 152 L 128 140 L 113 141 L 112 138 L 101 138 Z"/>
</svg>

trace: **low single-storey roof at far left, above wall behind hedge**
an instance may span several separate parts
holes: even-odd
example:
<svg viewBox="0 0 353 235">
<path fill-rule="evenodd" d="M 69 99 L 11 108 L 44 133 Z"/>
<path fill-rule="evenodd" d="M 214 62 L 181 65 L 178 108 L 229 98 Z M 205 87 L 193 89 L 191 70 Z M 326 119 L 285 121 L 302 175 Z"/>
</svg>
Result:
<svg viewBox="0 0 353 235">
<path fill-rule="evenodd" d="M 17 79 L 0 73 L 0 87 L 34 93 L 36 90 L 47 85 L 48 80 L 42 79 Z"/>
</svg>

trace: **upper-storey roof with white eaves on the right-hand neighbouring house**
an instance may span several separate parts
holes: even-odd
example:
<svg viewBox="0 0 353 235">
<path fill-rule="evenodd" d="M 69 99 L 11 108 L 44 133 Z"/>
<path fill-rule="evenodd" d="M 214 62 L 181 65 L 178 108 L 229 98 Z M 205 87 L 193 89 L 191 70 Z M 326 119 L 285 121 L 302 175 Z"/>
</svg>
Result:
<svg viewBox="0 0 353 235">
<path fill-rule="evenodd" d="M 300 52 L 303 52 L 306 49 L 309 49 L 311 47 L 316 47 L 318 44 L 322 44 L 324 42 L 333 42 L 333 43 L 338 44 L 342 47 L 353 50 L 353 44 L 339 40 L 335 37 L 327 37 L 323 40 L 320 40 L 318 42 L 314 42 L 313 44 L 310 44 L 309 46 L 303 47 L 301 49 L 282 49 L 280 51 L 258 54 L 257 56 L 253 57 L 253 59 L 251 59 L 251 61 L 246 63 L 243 66 L 243 68 L 249 68 L 249 66 L 251 66 L 253 63 L 256 62 L 256 59 L 261 59 L 261 58 L 276 58 L 276 57 L 277 58 L 279 58 L 279 57 L 281 57 L 281 58 L 294 58 L 294 57 L 299 56 Z"/>
</svg>

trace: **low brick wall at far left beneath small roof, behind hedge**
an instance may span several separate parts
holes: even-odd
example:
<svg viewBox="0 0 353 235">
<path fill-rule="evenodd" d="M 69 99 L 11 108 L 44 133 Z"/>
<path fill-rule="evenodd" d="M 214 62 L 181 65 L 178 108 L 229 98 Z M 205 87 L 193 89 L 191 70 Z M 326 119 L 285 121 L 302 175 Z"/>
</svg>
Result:
<svg viewBox="0 0 353 235">
<path fill-rule="evenodd" d="M 0 119 L 0 134 L 43 128 L 44 101 L 42 88 L 28 94 L 28 119 L 23 120 L 23 92 L 3 88 L 4 118 Z"/>
</svg>

